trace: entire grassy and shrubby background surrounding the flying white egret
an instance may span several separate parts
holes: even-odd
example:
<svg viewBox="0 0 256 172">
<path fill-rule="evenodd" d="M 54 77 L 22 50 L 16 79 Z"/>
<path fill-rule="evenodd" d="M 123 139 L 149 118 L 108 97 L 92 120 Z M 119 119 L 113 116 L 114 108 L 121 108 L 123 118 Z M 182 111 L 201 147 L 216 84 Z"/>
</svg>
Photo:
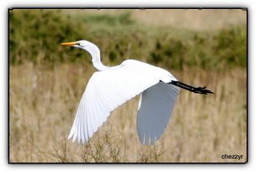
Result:
<svg viewBox="0 0 256 172">
<path fill-rule="evenodd" d="M 95 70 L 88 53 L 59 44 L 83 39 L 99 46 L 106 65 L 140 59 L 215 94 L 180 91 L 154 146 L 136 134 L 138 97 L 113 111 L 88 145 L 71 143 Z M 244 162 L 246 106 L 242 10 L 10 11 L 11 162 Z M 244 157 L 221 159 L 225 153 Z"/>
</svg>

